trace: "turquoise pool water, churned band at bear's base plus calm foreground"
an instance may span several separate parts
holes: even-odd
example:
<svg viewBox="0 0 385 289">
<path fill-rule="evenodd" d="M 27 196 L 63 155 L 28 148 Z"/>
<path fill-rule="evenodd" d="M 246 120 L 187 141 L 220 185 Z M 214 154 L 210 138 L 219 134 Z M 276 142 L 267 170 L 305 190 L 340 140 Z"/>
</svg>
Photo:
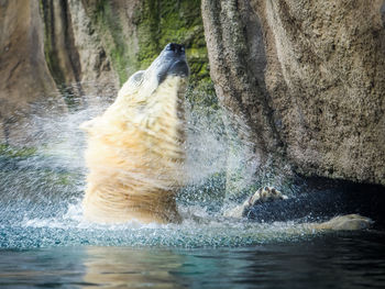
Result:
<svg viewBox="0 0 385 289">
<path fill-rule="evenodd" d="M 59 197 L 0 201 L 0 288 L 385 287 L 384 231 L 317 233 L 199 205 L 182 205 L 178 225 L 97 225 Z"/>
</svg>

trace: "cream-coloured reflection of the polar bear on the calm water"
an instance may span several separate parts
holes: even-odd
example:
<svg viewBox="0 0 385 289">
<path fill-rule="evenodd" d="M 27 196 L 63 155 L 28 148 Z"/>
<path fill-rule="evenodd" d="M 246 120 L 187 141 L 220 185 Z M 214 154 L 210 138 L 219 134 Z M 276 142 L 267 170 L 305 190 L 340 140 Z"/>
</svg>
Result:
<svg viewBox="0 0 385 289">
<path fill-rule="evenodd" d="M 87 247 L 82 288 L 180 288 L 183 255 L 160 248 Z"/>
</svg>

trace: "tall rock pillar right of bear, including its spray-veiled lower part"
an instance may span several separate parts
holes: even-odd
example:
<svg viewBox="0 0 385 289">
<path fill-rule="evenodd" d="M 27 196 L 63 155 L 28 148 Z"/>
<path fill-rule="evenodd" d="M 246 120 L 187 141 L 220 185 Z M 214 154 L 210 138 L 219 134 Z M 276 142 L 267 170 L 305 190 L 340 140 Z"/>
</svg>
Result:
<svg viewBox="0 0 385 289">
<path fill-rule="evenodd" d="M 226 110 L 230 136 L 227 197 L 242 198 L 264 174 L 261 165 L 271 159 L 282 163 L 283 145 L 272 123 L 264 84 L 266 56 L 261 23 L 249 1 L 204 0 L 201 11 L 210 75 Z"/>
</svg>

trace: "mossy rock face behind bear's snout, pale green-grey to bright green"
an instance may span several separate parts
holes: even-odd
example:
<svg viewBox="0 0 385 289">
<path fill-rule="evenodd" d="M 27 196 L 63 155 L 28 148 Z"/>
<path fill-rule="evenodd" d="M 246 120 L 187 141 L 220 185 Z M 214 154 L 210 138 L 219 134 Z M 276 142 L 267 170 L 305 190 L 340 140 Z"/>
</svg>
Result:
<svg viewBox="0 0 385 289">
<path fill-rule="evenodd" d="M 119 1 L 85 2 L 121 85 L 170 42 L 186 46 L 190 81 L 210 81 L 200 0 L 138 1 L 133 11 Z"/>
</svg>

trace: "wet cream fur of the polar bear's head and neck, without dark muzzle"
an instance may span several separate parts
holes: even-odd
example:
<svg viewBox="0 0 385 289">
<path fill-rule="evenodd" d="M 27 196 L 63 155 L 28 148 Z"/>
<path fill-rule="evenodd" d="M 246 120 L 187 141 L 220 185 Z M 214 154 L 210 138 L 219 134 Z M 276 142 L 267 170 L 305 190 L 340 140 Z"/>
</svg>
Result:
<svg viewBox="0 0 385 289">
<path fill-rule="evenodd" d="M 81 127 L 88 132 L 85 216 L 99 223 L 178 222 L 184 184 L 185 78 L 139 71 L 114 103 Z"/>
</svg>

